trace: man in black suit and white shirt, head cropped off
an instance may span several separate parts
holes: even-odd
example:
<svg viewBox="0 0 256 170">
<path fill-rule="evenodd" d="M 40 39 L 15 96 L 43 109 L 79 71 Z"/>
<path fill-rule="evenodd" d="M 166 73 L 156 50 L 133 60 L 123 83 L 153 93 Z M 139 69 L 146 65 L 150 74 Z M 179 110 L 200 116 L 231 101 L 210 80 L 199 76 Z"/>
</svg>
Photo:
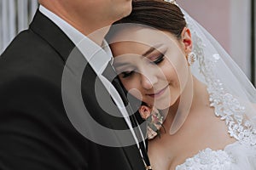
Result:
<svg viewBox="0 0 256 170">
<path fill-rule="evenodd" d="M 108 29 L 90 36 L 130 14 L 131 0 L 39 3 L 29 29 L 0 57 L 0 169 L 145 169 L 129 120 L 106 108 Z"/>
</svg>

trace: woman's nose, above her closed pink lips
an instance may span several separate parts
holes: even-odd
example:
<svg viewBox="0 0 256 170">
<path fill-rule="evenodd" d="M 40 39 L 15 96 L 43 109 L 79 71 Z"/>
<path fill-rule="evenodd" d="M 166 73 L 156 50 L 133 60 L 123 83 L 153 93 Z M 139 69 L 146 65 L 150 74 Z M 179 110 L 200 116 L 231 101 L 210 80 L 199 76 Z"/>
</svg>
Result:
<svg viewBox="0 0 256 170">
<path fill-rule="evenodd" d="M 154 84 L 157 82 L 157 77 L 154 74 L 150 74 L 150 72 L 148 72 L 147 74 L 141 73 L 141 84 L 143 86 L 143 88 L 145 89 L 151 89 L 154 87 Z"/>
</svg>

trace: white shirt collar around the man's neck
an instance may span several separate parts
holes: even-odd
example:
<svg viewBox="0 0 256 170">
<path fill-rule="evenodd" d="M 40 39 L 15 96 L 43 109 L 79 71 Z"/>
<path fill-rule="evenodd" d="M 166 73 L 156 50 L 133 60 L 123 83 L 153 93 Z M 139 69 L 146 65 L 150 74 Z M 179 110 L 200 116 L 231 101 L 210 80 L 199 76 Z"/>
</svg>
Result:
<svg viewBox="0 0 256 170">
<path fill-rule="evenodd" d="M 81 53 L 84 54 L 84 58 L 90 63 L 93 70 L 96 71 L 96 74 L 102 74 L 108 61 L 113 58 L 108 42 L 103 40 L 102 47 L 100 47 L 96 42 L 84 36 L 84 34 L 69 25 L 65 20 L 62 20 L 59 16 L 49 11 L 49 9 L 44 8 L 43 5 L 39 6 L 39 10 L 49 20 L 52 20 L 55 25 L 59 26 L 67 37 L 79 48 Z"/>
</svg>

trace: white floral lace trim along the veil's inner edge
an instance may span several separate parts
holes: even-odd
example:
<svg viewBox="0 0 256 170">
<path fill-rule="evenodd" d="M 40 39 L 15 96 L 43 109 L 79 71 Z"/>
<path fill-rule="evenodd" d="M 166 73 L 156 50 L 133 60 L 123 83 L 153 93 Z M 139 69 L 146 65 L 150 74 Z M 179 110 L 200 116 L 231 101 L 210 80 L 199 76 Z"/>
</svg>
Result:
<svg viewBox="0 0 256 170">
<path fill-rule="evenodd" d="M 246 106 L 241 105 L 239 98 L 230 94 L 224 83 L 215 75 L 214 70 L 218 69 L 216 65 L 221 56 L 216 51 L 212 53 L 213 50 L 205 53 L 204 49 L 211 47 L 207 47 L 198 36 L 198 31 L 195 31 L 193 23 L 195 20 L 192 20 L 188 14 L 185 14 L 185 18 L 192 32 L 193 51 L 198 57 L 198 68 L 207 84 L 210 106 L 215 108 L 215 115 L 225 121 L 231 137 L 246 144 L 256 144 L 256 129 L 253 127 L 253 123 L 246 119 Z M 208 56 L 206 57 L 206 55 Z"/>
</svg>

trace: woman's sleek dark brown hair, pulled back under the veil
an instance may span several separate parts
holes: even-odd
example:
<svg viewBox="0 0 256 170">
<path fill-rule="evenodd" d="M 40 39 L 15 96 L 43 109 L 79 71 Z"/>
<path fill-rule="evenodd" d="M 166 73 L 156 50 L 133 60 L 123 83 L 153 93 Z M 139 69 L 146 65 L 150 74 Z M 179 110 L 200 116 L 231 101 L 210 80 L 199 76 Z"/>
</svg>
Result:
<svg viewBox="0 0 256 170">
<path fill-rule="evenodd" d="M 169 31 L 179 39 L 186 26 L 183 16 L 177 5 L 164 0 L 133 0 L 131 14 L 113 25 L 135 23 L 151 26 L 161 31 Z"/>
</svg>

